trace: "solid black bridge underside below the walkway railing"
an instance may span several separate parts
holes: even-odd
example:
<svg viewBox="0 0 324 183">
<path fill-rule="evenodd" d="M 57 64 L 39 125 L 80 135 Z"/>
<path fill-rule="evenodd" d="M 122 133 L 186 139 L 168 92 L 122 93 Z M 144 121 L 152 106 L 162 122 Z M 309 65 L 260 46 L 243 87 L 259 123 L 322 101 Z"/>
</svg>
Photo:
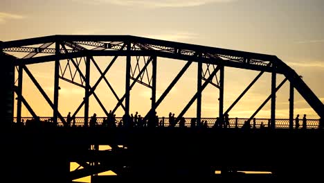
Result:
<svg viewBox="0 0 324 183">
<path fill-rule="evenodd" d="M 6 137 L 4 165 L 11 182 L 120 180 L 284 180 L 321 178 L 323 130 L 154 128 L 18 128 Z M 93 145 L 109 145 L 99 150 Z M 92 147 L 92 148 L 91 148 Z M 316 153 L 314 153 L 316 152 Z M 83 168 L 69 171 L 69 162 Z M 31 168 L 33 167 L 33 168 Z M 11 172 L 10 172 L 11 171 Z M 98 173 L 114 171 L 115 176 Z M 221 175 L 215 171 L 222 171 Z M 249 175 L 236 171 L 267 171 Z"/>
</svg>

